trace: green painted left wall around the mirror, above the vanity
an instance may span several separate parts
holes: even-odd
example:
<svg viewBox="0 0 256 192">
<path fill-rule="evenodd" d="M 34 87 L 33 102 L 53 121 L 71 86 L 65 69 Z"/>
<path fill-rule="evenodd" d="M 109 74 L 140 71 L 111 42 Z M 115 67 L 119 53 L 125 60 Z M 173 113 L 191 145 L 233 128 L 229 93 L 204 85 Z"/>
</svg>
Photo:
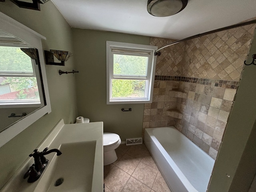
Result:
<svg viewBox="0 0 256 192">
<path fill-rule="evenodd" d="M 43 49 L 73 51 L 71 28 L 54 4 L 41 5 L 41 11 L 19 8 L 12 2 L 0 2 L 0 12 L 14 18 L 47 38 Z M 46 66 L 52 112 L 44 115 L 10 142 L 0 148 L 0 188 L 28 158 L 60 119 L 66 124 L 77 116 L 75 75 L 59 75 L 58 70 L 72 70 L 74 58 L 66 66 Z"/>
</svg>

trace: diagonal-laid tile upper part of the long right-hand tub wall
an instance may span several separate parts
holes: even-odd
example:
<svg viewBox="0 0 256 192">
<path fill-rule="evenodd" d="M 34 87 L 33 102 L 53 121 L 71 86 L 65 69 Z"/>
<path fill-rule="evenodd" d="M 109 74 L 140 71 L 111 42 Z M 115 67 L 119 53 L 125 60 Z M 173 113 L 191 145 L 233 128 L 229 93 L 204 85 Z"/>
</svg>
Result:
<svg viewBox="0 0 256 192">
<path fill-rule="evenodd" d="M 255 24 L 186 41 L 182 75 L 239 80 Z"/>
</svg>

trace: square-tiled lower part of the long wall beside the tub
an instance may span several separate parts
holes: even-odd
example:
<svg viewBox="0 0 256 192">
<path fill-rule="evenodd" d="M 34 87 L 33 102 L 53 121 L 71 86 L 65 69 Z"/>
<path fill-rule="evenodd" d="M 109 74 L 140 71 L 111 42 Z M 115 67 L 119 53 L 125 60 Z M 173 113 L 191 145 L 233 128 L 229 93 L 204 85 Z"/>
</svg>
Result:
<svg viewBox="0 0 256 192">
<path fill-rule="evenodd" d="M 188 98 L 179 104 L 183 118 L 175 127 L 215 159 L 236 89 L 190 82 L 180 82 L 179 88 L 188 92 Z"/>
</svg>

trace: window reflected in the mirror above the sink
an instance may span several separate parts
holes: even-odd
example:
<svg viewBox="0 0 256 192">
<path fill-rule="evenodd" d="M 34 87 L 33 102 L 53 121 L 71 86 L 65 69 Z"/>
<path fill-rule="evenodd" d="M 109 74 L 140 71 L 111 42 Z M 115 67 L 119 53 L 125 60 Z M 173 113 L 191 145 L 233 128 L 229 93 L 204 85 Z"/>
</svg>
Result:
<svg viewBox="0 0 256 192">
<path fill-rule="evenodd" d="M 41 104 L 35 67 L 20 46 L 0 46 L 0 106 Z"/>
</svg>

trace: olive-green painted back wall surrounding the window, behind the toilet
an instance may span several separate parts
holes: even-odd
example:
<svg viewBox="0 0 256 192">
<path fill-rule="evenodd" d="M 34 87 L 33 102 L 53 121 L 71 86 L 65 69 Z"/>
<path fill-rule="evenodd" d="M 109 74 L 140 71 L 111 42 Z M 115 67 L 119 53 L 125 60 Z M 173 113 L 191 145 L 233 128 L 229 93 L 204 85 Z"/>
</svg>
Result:
<svg viewBox="0 0 256 192">
<path fill-rule="evenodd" d="M 114 32 L 72 28 L 76 62 L 78 115 L 103 121 L 104 132 L 121 140 L 142 136 L 144 104 L 106 104 L 106 41 L 149 45 L 150 38 Z M 132 112 L 121 109 L 132 108 Z"/>
</svg>

